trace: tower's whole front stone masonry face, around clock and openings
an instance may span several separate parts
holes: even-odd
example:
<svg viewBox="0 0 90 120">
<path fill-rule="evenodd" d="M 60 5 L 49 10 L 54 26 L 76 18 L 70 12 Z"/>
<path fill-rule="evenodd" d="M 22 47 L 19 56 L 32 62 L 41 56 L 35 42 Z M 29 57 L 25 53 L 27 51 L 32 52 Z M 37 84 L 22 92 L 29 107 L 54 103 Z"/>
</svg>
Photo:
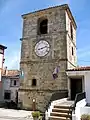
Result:
<svg viewBox="0 0 90 120">
<path fill-rule="evenodd" d="M 48 33 L 38 35 L 38 19 L 48 19 Z M 66 14 L 62 7 L 46 9 L 23 16 L 23 35 L 20 68 L 24 71 L 21 80 L 19 101 L 24 108 L 32 108 L 32 100 L 36 99 L 36 107 L 45 111 L 51 95 L 58 90 L 67 90 L 67 32 Z M 40 40 L 50 44 L 50 51 L 44 57 L 35 54 L 35 45 Z M 59 66 L 58 78 L 53 79 L 53 71 Z M 32 87 L 32 79 L 37 85 Z"/>
</svg>

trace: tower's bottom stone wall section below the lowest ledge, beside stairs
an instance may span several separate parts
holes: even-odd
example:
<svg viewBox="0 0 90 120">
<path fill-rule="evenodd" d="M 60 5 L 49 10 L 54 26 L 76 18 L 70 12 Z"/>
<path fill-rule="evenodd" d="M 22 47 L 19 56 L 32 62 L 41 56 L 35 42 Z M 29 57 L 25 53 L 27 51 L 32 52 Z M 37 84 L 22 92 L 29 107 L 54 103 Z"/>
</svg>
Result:
<svg viewBox="0 0 90 120">
<path fill-rule="evenodd" d="M 31 90 L 26 92 L 24 91 L 22 92 L 22 94 L 23 97 L 21 101 L 23 103 L 24 109 L 32 110 L 33 99 L 35 99 L 36 109 L 44 112 L 46 109 L 46 105 L 48 104 L 48 101 L 50 100 L 50 97 L 52 95 L 52 92 Z"/>
</svg>

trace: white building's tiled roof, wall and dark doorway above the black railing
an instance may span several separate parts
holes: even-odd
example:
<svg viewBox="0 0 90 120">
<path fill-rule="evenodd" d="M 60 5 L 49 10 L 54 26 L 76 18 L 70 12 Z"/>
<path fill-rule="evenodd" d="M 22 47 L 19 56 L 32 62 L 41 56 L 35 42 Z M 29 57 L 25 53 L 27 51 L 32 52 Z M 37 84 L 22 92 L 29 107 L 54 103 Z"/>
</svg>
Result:
<svg viewBox="0 0 90 120">
<path fill-rule="evenodd" d="M 90 104 L 90 67 L 77 67 L 67 70 L 68 96 L 75 99 L 77 93 L 86 93 L 86 102 Z"/>
</svg>

